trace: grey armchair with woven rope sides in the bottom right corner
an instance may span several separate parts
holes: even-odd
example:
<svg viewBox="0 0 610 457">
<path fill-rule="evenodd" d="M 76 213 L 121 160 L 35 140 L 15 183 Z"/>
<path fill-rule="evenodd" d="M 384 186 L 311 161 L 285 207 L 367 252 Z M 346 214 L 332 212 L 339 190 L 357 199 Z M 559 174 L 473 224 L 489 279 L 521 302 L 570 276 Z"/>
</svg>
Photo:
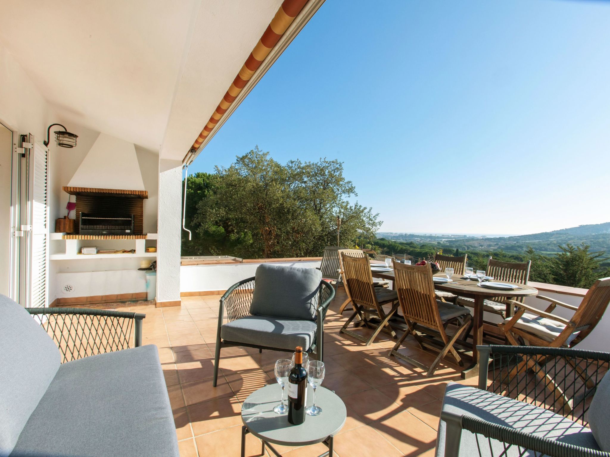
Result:
<svg viewBox="0 0 610 457">
<path fill-rule="evenodd" d="M 478 388 L 448 384 L 437 457 L 610 457 L 610 353 L 478 348 L 489 373 L 481 371 Z M 525 374 L 516 369 L 522 365 L 530 367 Z"/>
</svg>

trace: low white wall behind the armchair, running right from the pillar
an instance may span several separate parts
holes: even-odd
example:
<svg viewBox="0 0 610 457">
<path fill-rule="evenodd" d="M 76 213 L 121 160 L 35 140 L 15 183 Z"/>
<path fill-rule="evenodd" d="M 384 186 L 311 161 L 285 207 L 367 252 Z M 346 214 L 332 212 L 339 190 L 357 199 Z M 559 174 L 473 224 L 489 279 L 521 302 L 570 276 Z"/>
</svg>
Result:
<svg viewBox="0 0 610 457">
<path fill-rule="evenodd" d="M 320 261 L 264 262 L 271 265 L 315 268 Z M 251 278 L 260 263 L 232 263 L 214 265 L 182 265 L 180 292 L 225 291 L 242 279 Z"/>
</svg>

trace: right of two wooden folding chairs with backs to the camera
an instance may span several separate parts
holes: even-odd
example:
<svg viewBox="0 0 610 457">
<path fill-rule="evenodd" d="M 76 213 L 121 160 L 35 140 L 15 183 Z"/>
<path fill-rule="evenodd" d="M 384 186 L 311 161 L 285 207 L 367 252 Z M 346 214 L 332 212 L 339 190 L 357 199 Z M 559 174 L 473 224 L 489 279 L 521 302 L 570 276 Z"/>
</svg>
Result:
<svg viewBox="0 0 610 457">
<path fill-rule="evenodd" d="M 428 370 L 426 373 L 428 377 L 434 374 L 437 365 L 448 352 L 462 366 L 464 363 L 453 345 L 468 327 L 472 319 L 470 311 L 464 306 L 453 305 L 453 303 L 436 299 L 434 282 L 432 282 L 432 269 L 429 265 L 417 266 L 395 263 L 394 277 L 394 289 L 398 293 L 398 301 L 403 310 L 407 330 L 392 348 L 390 355 L 395 355 L 423 370 Z M 447 325 L 451 323 L 456 324 L 458 330 L 450 338 L 446 330 Z M 442 349 L 429 367 L 398 352 L 400 345 L 403 344 L 404 339 L 409 334 L 415 337 L 422 349 L 428 347 L 429 349 L 439 350 L 439 345 L 434 344 L 431 338 L 422 338 L 418 333 L 440 336 L 440 339 L 442 339 Z"/>
</svg>

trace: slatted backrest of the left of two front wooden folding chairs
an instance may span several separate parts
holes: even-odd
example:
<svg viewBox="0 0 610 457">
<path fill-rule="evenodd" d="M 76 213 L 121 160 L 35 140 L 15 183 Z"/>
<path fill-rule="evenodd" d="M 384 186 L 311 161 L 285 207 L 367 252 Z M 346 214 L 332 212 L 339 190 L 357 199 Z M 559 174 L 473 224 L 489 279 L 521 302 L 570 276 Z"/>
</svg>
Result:
<svg viewBox="0 0 610 457">
<path fill-rule="evenodd" d="M 357 305 L 378 308 L 368 257 L 364 253 L 362 256 L 354 257 L 343 251 L 341 252 L 341 264 L 343 283 L 350 292 L 351 300 Z"/>
</svg>

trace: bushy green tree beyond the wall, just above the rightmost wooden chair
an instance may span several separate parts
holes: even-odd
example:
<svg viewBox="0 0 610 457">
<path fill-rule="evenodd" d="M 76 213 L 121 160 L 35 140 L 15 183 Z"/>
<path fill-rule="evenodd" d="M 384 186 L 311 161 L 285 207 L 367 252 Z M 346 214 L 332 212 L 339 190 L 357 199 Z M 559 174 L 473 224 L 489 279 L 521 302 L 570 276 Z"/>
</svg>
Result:
<svg viewBox="0 0 610 457">
<path fill-rule="evenodd" d="M 589 252 L 590 246 L 582 243 L 573 246 L 566 243 L 559 245 L 559 252 L 553 261 L 555 283 L 564 286 L 589 288 L 595 280 L 608 275 L 601 263 L 608 260 L 604 251 Z"/>
</svg>

